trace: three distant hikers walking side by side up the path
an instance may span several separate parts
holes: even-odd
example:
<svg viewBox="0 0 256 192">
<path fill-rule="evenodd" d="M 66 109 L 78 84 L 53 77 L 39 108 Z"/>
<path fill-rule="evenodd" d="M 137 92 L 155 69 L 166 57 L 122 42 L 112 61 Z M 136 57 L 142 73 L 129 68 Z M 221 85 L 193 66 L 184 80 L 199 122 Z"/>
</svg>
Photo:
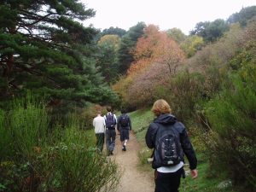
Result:
<svg viewBox="0 0 256 192">
<path fill-rule="evenodd" d="M 116 139 L 116 129 L 119 131 L 122 150 L 126 151 L 126 145 L 131 131 L 131 119 L 126 114 L 125 109 L 121 110 L 119 118 L 112 112 L 111 107 L 107 107 L 108 113 L 102 116 L 102 111 L 97 111 L 96 118 L 93 119 L 93 126 L 96 132 L 96 148 L 102 152 L 106 136 L 107 155 L 113 154 Z"/>
</svg>

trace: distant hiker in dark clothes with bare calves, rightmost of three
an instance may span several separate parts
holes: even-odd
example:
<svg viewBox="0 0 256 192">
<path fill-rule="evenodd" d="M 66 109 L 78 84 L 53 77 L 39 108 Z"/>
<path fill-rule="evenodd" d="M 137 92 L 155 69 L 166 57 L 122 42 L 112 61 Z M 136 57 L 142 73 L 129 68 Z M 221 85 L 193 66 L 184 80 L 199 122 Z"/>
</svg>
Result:
<svg viewBox="0 0 256 192">
<path fill-rule="evenodd" d="M 121 115 L 118 118 L 117 130 L 120 133 L 120 141 L 122 143 L 122 150 L 126 151 L 126 145 L 129 140 L 129 131 L 131 131 L 131 119 L 125 113 L 125 109 L 121 110 Z"/>
</svg>

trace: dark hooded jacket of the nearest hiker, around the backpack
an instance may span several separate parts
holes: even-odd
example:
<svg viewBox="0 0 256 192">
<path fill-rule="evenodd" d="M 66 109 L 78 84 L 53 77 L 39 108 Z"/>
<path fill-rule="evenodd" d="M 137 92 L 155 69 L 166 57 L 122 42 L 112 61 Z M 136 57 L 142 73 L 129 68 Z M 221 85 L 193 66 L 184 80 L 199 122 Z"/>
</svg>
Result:
<svg viewBox="0 0 256 192">
<path fill-rule="evenodd" d="M 177 133 L 177 137 L 180 140 L 181 147 L 183 149 L 183 154 L 185 154 L 189 160 L 189 168 L 191 170 L 194 170 L 197 166 L 195 151 L 192 147 L 192 144 L 189 141 L 189 137 L 185 129 L 185 126 L 181 122 L 177 121 L 176 117 L 174 117 L 172 114 L 161 114 L 158 118 L 154 119 L 153 123 L 149 125 L 145 137 L 148 148 L 155 148 L 156 132 L 160 125 L 172 125 L 172 127 L 176 130 L 175 132 Z M 155 167 L 154 160 L 152 166 Z"/>
</svg>

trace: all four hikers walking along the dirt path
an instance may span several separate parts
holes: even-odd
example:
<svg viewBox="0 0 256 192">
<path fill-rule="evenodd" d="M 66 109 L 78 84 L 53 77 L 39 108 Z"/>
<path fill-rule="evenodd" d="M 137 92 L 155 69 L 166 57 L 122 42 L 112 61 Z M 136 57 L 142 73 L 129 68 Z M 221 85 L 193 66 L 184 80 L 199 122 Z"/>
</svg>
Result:
<svg viewBox="0 0 256 192">
<path fill-rule="evenodd" d="M 122 150 L 126 150 L 129 131 L 131 131 L 131 119 L 125 111 L 121 111 L 122 114 L 118 119 L 111 112 L 111 108 L 108 107 L 107 111 L 108 113 L 104 117 L 102 117 L 101 111 L 98 111 L 93 125 L 96 131 L 96 145 L 100 151 L 103 148 L 104 127 L 106 127 L 106 145 L 109 155 L 113 154 L 115 145 L 115 127 L 120 132 Z M 151 111 L 154 113 L 155 119 L 148 126 L 145 142 L 148 148 L 154 149 L 152 154 L 154 192 L 178 192 L 181 177 L 185 177 L 184 155 L 189 160 L 191 177 L 198 176 L 195 150 L 189 141 L 185 126 L 172 114 L 168 102 L 163 99 L 157 100 Z"/>
</svg>

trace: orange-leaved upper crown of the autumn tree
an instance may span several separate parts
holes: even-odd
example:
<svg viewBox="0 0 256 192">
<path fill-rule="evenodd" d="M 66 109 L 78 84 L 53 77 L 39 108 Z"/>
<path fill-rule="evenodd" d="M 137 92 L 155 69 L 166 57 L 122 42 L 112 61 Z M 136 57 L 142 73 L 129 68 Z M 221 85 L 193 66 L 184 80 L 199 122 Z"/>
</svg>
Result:
<svg viewBox="0 0 256 192">
<path fill-rule="evenodd" d="M 144 35 L 137 41 L 136 49 L 132 51 L 135 61 L 128 74 L 137 73 L 150 64 L 164 64 L 171 73 L 172 65 L 183 61 L 184 54 L 178 44 L 166 32 L 160 32 L 157 26 L 150 25 L 145 28 Z"/>
</svg>

